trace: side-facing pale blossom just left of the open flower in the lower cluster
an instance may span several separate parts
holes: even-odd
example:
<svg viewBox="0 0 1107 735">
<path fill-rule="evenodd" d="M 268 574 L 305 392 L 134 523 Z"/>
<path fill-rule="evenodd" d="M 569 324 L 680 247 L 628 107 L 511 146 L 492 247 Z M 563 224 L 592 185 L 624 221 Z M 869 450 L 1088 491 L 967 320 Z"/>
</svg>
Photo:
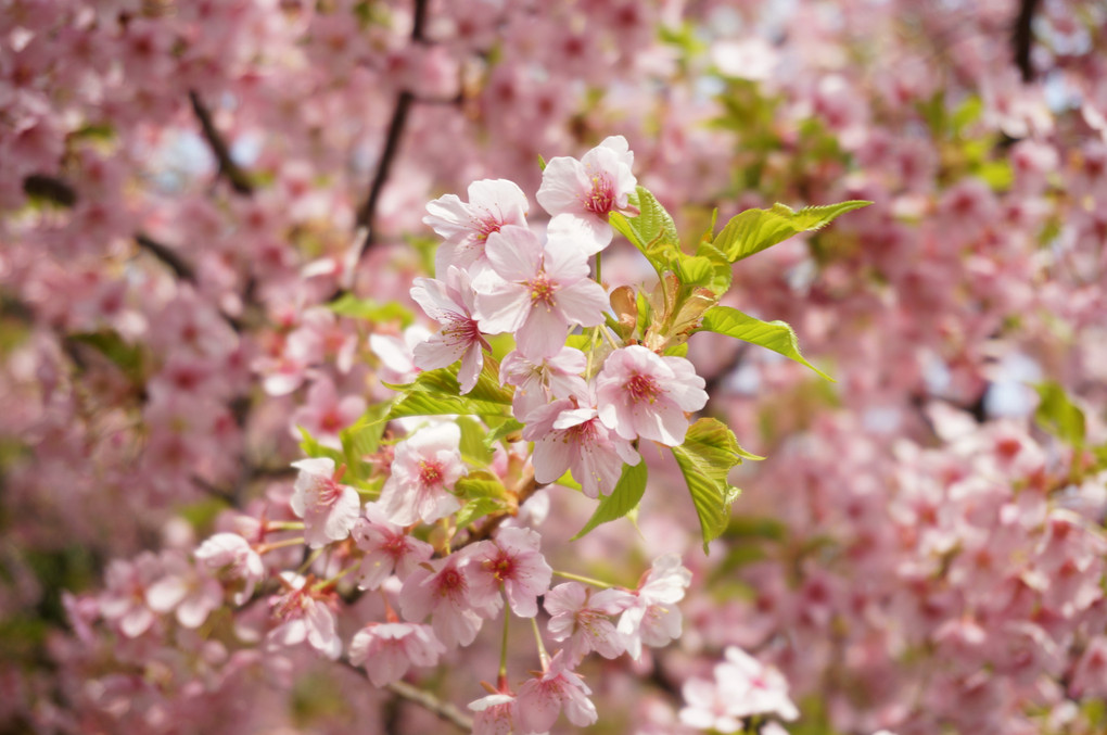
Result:
<svg viewBox="0 0 1107 735">
<path fill-rule="evenodd" d="M 290 505 L 292 513 L 303 518 L 303 535 L 313 549 L 341 541 L 361 511 L 358 490 L 340 485 L 334 477 L 334 460 L 314 457 L 293 462 L 300 470 Z"/>
</svg>

